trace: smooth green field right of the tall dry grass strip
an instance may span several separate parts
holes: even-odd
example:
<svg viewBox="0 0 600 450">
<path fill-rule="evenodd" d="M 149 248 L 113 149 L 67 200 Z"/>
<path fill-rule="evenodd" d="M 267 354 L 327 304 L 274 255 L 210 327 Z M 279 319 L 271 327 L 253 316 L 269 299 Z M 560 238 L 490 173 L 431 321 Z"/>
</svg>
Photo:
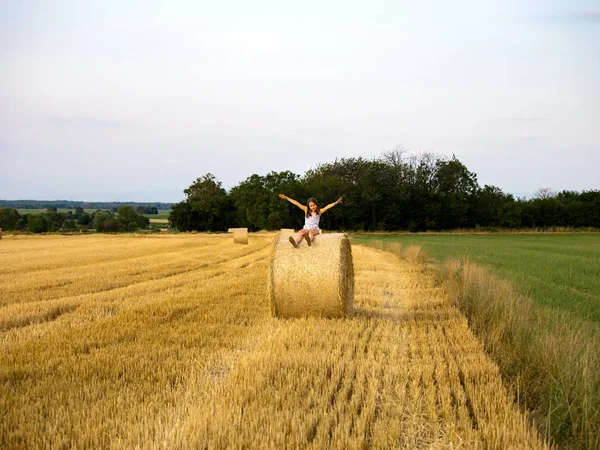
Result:
<svg viewBox="0 0 600 450">
<path fill-rule="evenodd" d="M 538 305 L 600 324 L 600 234 L 356 235 L 353 242 L 420 245 L 435 262 L 468 258 Z"/>
</svg>

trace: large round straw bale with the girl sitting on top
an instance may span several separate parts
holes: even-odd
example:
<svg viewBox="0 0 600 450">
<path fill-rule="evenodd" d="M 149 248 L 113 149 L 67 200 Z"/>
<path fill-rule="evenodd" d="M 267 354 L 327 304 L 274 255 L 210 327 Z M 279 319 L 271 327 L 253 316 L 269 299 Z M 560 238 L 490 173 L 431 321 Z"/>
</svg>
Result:
<svg viewBox="0 0 600 450">
<path fill-rule="evenodd" d="M 354 266 L 348 236 L 315 236 L 312 246 L 294 248 L 279 233 L 269 275 L 275 317 L 346 317 L 354 300 Z"/>
</svg>

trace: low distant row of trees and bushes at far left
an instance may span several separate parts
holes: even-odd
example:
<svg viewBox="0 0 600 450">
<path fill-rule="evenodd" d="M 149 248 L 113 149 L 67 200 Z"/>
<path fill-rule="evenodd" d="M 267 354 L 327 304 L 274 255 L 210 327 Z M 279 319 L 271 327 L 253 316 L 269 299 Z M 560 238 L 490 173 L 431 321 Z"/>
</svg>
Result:
<svg viewBox="0 0 600 450">
<path fill-rule="evenodd" d="M 77 207 L 75 211 L 61 213 L 54 206 L 45 213 L 23 214 L 14 208 L 0 208 L 0 228 L 4 231 L 28 231 L 46 233 L 53 231 L 78 231 L 95 229 L 99 232 L 132 232 L 148 228 L 150 220 L 138 214 L 133 206 L 121 206 L 115 210 L 97 210 L 84 212 Z"/>
</svg>

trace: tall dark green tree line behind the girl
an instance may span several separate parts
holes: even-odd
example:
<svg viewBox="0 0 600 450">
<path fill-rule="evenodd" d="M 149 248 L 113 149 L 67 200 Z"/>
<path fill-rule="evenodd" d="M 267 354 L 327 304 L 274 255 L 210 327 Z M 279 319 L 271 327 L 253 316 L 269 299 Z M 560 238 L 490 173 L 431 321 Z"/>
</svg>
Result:
<svg viewBox="0 0 600 450">
<path fill-rule="evenodd" d="M 341 158 L 304 175 L 290 171 L 252 175 L 227 192 L 207 173 L 184 190 L 169 222 L 181 231 L 251 231 L 301 228 L 302 213 L 278 194 L 321 205 L 344 203 L 321 219 L 324 229 L 441 231 L 457 228 L 600 228 L 600 190 L 540 189 L 515 198 L 496 186 L 479 185 L 456 157 L 407 155 L 400 149 L 380 158 Z"/>
</svg>

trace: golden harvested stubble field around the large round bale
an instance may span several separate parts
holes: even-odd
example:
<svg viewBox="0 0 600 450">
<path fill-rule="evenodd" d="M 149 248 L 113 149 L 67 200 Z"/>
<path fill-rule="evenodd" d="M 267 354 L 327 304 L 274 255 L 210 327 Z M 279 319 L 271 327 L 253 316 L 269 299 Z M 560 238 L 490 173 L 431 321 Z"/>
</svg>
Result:
<svg viewBox="0 0 600 450">
<path fill-rule="evenodd" d="M 274 319 L 272 242 L 4 239 L 0 447 L 544 447 L 419 266 L 354 246 L 352 317 Z"/>
</svg>

